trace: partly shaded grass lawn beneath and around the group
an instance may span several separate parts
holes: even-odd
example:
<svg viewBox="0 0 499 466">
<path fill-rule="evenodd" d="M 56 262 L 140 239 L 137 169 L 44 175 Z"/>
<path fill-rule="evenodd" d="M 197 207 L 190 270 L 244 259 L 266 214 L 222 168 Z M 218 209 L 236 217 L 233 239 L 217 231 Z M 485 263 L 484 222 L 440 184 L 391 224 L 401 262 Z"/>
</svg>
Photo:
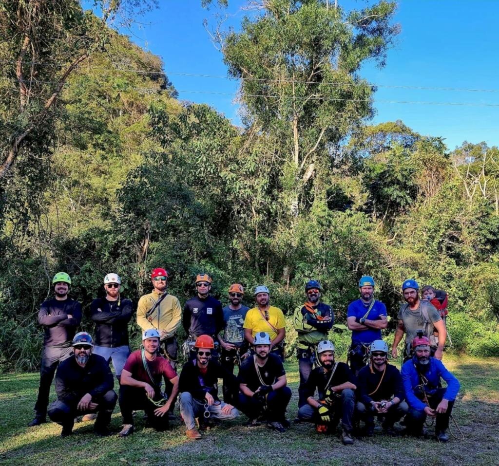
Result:
<svg viewBox="0 0 499 466">
<path fill-rule="evenodd" d="M 298 368 L 286 364 L 293 398 L 288 418 L 297 411 Z M 499 464 L 499 361 L 445 355 L 447 367 L 461 381 L 454 408 L 466 440 L 448 444 L 434 440 L 381 434 L 356 440 L 344 447 L 338 436 L 315 432 L 311 424 L 292 425 L 285 434 L 261 426 L 245 427 L 246 417 L 221 424 L 192 441 L 185 436 L 180 418 L 166 433 L 144 428 L 137 415 L 136 432 L 96 438 L 93 422 L 75 424 L 75 435 L 62 439 L 53 423 L 27 428 L 32 419 L 38 374 L 0 375 L 1 465 L 498 465 Z M 51 400 L 55 394 L 51 394 Z M 118 411 L 118 407 L 116 407 Z M 119 431 L 121 416 L 115 412 L 112 429 Z M 433 432 L 433 428 L 430 428 Z"/>
</svg>

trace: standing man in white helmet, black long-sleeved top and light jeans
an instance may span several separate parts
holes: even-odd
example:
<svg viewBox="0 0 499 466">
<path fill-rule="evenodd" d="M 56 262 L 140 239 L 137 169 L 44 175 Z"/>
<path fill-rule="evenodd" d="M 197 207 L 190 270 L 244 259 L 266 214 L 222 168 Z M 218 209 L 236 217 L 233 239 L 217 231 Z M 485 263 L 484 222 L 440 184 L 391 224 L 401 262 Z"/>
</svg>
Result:
<svg viewBox="0 0 499 466">
<path fill-rule="evenodd" d="M 112 359 L 118 382 L 125 361 L 130 355 L 128 322 L 132 318 L 132 302 L 120 296 L 121 279 L 117 274 L 104 277 L 105 298 L 93 300 L 90 317 L 95 322 L 93 353 L 108 363 Z"/>
</svg>

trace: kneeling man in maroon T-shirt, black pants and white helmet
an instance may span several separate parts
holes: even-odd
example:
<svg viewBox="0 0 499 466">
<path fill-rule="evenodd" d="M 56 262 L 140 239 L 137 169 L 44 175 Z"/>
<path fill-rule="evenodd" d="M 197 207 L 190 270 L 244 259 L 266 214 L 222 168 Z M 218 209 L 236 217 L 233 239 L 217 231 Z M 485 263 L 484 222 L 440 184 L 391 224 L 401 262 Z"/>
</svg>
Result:
<svg viewBox="0 0 499 466">
<path fill-rule="evenodd" d="M 123 427 L 120 437 L 133 434 L 133 411 L 144 410 L 147 422 L 156 431 L 169 427 L 168 411 L 179 391 L 179 377 L 170 361 L 158 354 L 160 333 L 155 328 L 142 334 L 143 348 L 134 351 L 126 360 L 121 375 L 120 410 Z M 162 379 L 172 386 L 167 397 L 161 391 Z"/>
</svg>

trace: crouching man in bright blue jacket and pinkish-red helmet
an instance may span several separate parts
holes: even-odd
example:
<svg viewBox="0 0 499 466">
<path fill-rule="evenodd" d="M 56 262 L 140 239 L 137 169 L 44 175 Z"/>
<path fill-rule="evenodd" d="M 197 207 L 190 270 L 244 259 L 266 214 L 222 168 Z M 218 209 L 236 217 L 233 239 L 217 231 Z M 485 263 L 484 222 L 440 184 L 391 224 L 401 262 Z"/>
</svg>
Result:
<svg viewBox="0 0 499 466">
<path fill-rule="evenodd" d="M 459 392 L 458 379 L 442 361 L 430 356 L 430 340 L 417 336 L 412 341 L 414 356 L 402 366 L 402 380 L 409 413 L 406 426 L 409 434 L 420 436 L 426 417 L 436 419 L 435 437 L 440 442 L 449 441 L 447 429 L 454 401 Z M 441 379 L 447 383 L 442 388 Z"/>
</svg>

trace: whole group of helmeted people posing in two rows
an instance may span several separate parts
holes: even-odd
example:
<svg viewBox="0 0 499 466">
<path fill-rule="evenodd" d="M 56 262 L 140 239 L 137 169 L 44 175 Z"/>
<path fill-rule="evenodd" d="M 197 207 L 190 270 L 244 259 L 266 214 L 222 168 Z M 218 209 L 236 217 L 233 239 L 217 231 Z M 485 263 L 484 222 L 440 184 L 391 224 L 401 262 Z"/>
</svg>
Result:
<svg viewBox="0 0 499 466">
<path fill-rule="evenodd" d="M 178 399 L 191 439 L 201 438 L 200 430 L 209 428 L 212 420 L 234 419 L 240 412 L 249 418 L 249 426 L 264 422 L 285 432 L 290 427 L 286 409 L 291 399 L 283 366 L 285 320 L 280 309 L 270 306 L 269 290 L 257 286 L 256 306 L 250 309 L 242 304 L 243 286 L 233 284 L 230 304 L 223 308 L 211 296 L 211 277 L 199 274 L 197 294 L 182 312 L 179 300 L 167 292 L 165 269 L 154 269 L 151 282 L 152 292 L 142 296 L 137 306 L 142 345 L 131 352 L 128 323 L 133 306 L 121 297 L 117 274 L 104 277 L 106 296 L 90 306 L 95 339 L 87 332 L 76 333 L 82 311 L 80 303 L 68 296 L 71 278 L 62 272 L 54 276 L 54 297 L 38 313 L 45 336 L 35 418 L 29 425 L 46 422 L 48 414 L 62 426 L 65 437 L 72 434 L 75 418 L 83 415 L 83 420 L 95 419 L 97 435 L 109 435 L 118 401 L 123 417 L 120 437 L 134 432 L 134 412 L 141 410 L 148 425 L 163 431 L 175 417 Z M 446 442 L 459 382 L 441 362 L 445 310 L 432 304 L 436 293 L 432 287 L 425 287 L 420 299 L 417 282 L 403 283 L 406 303 L 398 313 L 391 350 L 397 357 L 405 333 L 405 362 L 399 372 L 388 363 L 388 345 L 381 337 L 388 323 L 387 311 L 374 299 L 374 289 L 373 278 L 362 277 L 360 299 L 348 307 L 347 324 L 352 331 L 348 364 L 335 360 L 334 344 L 328 339 L 334 313 L 321 302 L 321 285 L 315 280 L 305 285 L 306 301 L 293 315 L 300 374 L 295 422 L 312 422 L 317 432 L 326 433 L 333 432 L 341 420 L 341 440 L 351 445 L 354 428 L 360 428 L 361 422 L 362 435 L 373 435 L 376 418 L 386 433 L 394 435 L 394 424 L 404 417 L 406 432 L 421 435 L 429 416 L 436 418 L 435 436 Z M 180 325 L 187 334 L 188 357 L 178 375 L 181 349 L 176 333 Z M 119 395 L 114 391 L 111 361 Z M 57 400 L 49 406 L 54 374 Z M 223 381 L 222 400 L 219 380 Z"/>
</svg>

